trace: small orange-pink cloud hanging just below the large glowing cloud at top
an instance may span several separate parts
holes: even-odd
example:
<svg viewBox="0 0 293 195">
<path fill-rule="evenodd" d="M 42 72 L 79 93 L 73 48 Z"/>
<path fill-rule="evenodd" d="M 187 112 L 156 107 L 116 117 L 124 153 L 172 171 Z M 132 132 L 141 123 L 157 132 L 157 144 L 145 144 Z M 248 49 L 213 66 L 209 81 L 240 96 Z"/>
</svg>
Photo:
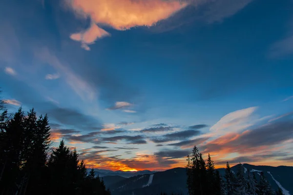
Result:
<svg viewBox="0 0 293 195">
<path fill-rule="evenodd" d="M 106 36 L 110 36 L 110 34 L 92 22 L 88 29 L 80 33 L 71 34 L 70 39 L 80 41 L 82 43 L 82 48 L 89 51 L 90 48 L 88 45 L 94 44 L 95 40 Z"/>
</svg>

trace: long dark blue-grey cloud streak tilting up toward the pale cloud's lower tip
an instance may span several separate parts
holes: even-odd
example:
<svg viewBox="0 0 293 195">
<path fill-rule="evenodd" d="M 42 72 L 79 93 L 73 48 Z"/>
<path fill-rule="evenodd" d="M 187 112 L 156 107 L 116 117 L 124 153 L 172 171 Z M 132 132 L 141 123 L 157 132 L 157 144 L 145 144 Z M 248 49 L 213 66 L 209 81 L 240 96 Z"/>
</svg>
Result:
<svg viewBox="0 0 293 195">
<path fill-rule="evenodd" d="M 164 143 L 168 141 L 184 140 L 184 139 L 187 139 L 188 137 L 198 136 L 200 135 L 200 133 L 201 132 L 198 130 L 186 130 L 186 131 L 175 132 L 172 134 L 167 134 L 160 137 L 154 137 L 154 138 L 151 138 L 151 140 L 155 143 Z"/>
</svg>

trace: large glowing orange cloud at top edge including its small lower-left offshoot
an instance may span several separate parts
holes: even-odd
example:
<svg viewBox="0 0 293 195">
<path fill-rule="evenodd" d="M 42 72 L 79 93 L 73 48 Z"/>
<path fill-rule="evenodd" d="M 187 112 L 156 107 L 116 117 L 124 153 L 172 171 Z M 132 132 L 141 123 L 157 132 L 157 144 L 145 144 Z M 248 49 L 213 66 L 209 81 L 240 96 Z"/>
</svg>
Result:
<svg viewBox="0 0 293 195">
<path fill-rule="evenodd" d="M 187 3 L 180 3 L 177 0 L 70 0 L 67 2 L 78 16 L 90 17 L 92 20 L 88 29 L 70 36 L 71 39 L 80 41 L 85 50 L 89 50 L 88 44 L 94 43 L 96 39 L 109 36 L 100 24 L 111 26 L 116 30 L 152 26 L 187 6 Z"/>
</svg>

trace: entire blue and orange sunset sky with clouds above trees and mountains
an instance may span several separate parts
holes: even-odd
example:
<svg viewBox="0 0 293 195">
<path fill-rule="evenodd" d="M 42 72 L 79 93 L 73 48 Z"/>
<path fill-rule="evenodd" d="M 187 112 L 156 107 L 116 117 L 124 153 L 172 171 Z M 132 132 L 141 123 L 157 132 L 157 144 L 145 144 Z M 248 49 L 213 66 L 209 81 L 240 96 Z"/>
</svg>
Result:
<svg viewBox="0 0 293 195">
<path fill-rule="evenodd" d="M 9 112 L 88 167 L 293 166 L 292 0 L 9 0 L 0 26 Z"/>
</svg>

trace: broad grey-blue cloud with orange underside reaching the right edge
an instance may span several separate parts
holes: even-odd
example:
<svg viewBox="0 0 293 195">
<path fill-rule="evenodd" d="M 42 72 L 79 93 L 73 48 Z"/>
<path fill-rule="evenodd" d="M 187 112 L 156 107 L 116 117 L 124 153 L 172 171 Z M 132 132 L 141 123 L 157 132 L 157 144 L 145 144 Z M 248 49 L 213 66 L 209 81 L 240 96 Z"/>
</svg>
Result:
<svg viewBox="0 0 293 195">
<path fill-rule="evenodd" d="M 209 141 L 205 152 L 249 153 L 260 151 L 293 137 L 293 121 L 275 121 L 242 133 L 229 133 Z"/>
</svg>

